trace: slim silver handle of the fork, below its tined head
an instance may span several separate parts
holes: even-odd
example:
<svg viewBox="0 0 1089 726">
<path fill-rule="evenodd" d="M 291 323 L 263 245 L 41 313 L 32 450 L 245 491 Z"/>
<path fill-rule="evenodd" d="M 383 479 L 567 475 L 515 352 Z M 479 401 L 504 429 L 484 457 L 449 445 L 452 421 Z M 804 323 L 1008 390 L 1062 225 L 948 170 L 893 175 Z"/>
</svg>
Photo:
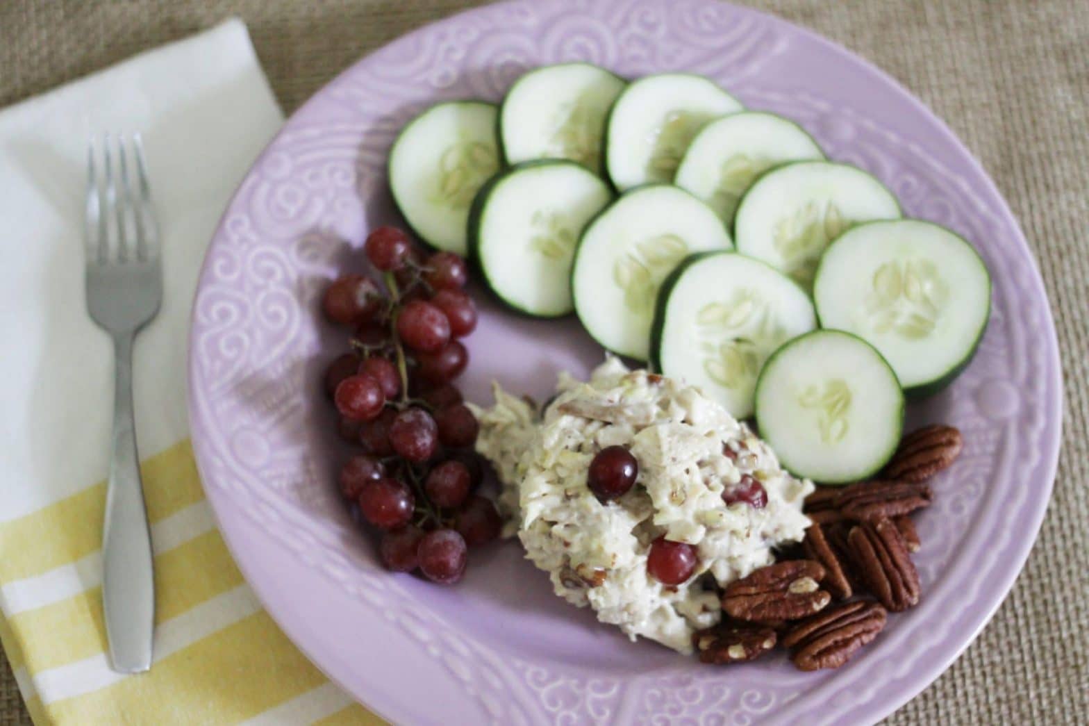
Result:
<svg viewBox="0 0 1089 726">
<path fill-rule="evenodd" d="M 102 536 L 102 606 L 110 660 L 119 673 L 151 667 L 155 620 L 151 535 L 133 418 L 133 338 L 113 339 L 113 437 Z"/>
</svg>

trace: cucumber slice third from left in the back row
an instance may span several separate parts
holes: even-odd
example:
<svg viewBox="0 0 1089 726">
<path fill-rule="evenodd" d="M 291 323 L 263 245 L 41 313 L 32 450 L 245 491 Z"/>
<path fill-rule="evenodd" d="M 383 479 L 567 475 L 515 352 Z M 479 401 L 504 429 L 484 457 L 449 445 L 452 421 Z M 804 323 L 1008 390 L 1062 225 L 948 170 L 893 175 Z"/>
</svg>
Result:
<svg viewBox="0 0 1089 726">
<path fill-rule="evenodd" d="M 605 126 L 605 168 L 624 191 L 673 180 L 693 136 L 708 121 L 742 110 L 741 101 L 690 73 L 648 75 L 616 98 Z"/>
</svg>

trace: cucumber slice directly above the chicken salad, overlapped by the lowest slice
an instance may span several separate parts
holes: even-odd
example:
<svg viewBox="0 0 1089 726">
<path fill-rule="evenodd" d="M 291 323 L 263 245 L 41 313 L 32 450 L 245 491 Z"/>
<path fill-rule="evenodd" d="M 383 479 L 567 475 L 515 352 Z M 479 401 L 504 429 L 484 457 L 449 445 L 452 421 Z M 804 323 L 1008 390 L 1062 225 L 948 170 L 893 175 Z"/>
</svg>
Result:
<svg viewBox="0 0 1089 726">
<path fill-rule="evenodd" d="M 747 419 L 764 361 L 816 327 L 809 295 L 791 278 L 736 252 L 706 252 L 662 285 L 651 360 L 664 375 L 699 386 L 735 419 Z"/>
</svg>

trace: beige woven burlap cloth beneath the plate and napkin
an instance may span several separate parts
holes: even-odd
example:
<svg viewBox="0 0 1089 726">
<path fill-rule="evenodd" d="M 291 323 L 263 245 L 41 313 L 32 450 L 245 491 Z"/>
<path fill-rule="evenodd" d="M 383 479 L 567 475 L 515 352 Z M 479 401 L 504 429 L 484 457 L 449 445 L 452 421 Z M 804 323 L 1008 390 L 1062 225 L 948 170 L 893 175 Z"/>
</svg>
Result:
<svg viewBox="0 0 1089 726">
<path fill-rule="evenodd" d="M 290 112 L 362 55 L 473 4 L 480 3 L 0 1 L 0 106 L 237 14 L 248 23 L 272 87 Z M 888 723 L 1087 723 L 1089 3 L 752 0 L 749 4 L 846 45 L 903 82 L 949 122 L 982 160 L 1020 219 L 1059 328 L 1065 441 L 1040 539 L 1010 597 L 976 642 Z M 1025 482 L 1027 487 L 1037 485 Z M 28 723 L 4 662 L 0 726 Z"/>
</svg>

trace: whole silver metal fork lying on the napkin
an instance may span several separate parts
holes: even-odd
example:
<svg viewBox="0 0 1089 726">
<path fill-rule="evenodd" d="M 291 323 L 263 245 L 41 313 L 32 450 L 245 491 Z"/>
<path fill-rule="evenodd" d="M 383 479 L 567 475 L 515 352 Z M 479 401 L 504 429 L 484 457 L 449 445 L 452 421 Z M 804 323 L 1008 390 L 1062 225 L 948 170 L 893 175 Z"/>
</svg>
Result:
<svg viewBox="0 0 1089 726">
<path fill-rule="evenodd" d="M 133 420 L 133 340 L 159 312 L 162 267 L 139 134 L 87 147 L 87 311 L 113 339 L 110 481 L 102 535 L 102 605 L 120 673 L 151 667 L 155 581 Z M 135 179 L 134 179 L 135 178 Z"/>
</svg>

